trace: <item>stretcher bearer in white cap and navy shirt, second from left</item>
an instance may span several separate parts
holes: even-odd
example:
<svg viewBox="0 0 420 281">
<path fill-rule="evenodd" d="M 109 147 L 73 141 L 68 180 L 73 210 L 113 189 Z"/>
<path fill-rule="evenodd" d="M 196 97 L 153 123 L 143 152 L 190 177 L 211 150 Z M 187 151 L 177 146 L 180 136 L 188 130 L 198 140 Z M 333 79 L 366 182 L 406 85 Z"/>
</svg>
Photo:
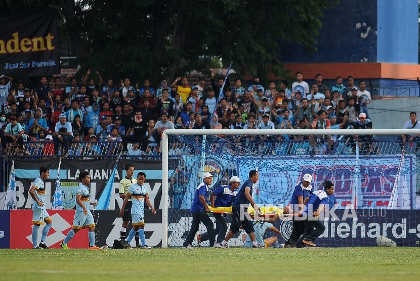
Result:
<svg viewBox="0 0 420 281">
<path fill-rule="evenodd" d="M 215 189 L 210 194 L 210 203 L 212 208 L 209 208 L 211 211 L 219 210 L 219 211 L 226 211 L 225 209 L 215 209 L 215 208 L 226 208 L 230 207 L 227 210 L 228 213 L 232 212 L 232 203 L 235 201 L 237 189 L 239 188 L 239 182 L 242 180 L 239 179 L 238 176 L 232 176 L 230 178 L 230 184 L 222 185 L 219 188 Z M 216 196 L 216 197 L 215 197 Z M 214 213 L 213 216 L 216 219 L 216 228 L 213 230 L 213 234 L 217 235 L 217 240 L 215 246 L 220 247 L 220 243 L 222 243 L 223 239 L 225 238 L 226 232 L 228 230 L 228 224 L 226 223 L 226 219 L 224 214 L 221 213 Z M 202 234 L 197 235 L 198 247 L 201 246 L 201 242 L 208 240 L 208 233 L 204 232 Z"/>
</svg>

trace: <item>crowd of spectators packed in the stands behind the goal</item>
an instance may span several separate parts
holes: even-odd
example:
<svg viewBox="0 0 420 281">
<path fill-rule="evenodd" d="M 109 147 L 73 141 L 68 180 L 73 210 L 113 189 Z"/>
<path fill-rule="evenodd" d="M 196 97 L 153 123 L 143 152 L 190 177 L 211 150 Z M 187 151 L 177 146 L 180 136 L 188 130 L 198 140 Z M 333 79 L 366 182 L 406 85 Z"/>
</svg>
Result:
<svg viewBox="0 0 420 281">
<path fill-rule="evenodd" d="M 187 77 L 178 77 L 172 84 L 162 79 L 152 87 L 145 79 L 133 85 L 130 78 L 119 83 L 112 79 L 99 81 L 86 73 L 82 81 L 71 78 L 62 85 L 59 77 L 49 81 L 42 77 L 40 84 L 29 89 L 12 77 L 0 77 L 0 137 L 4 155 L 14 150 L 18 155 L 100 155 L 109 147 L 103 142 L 117 142 L 113 153 L 124 155 L 160 154 L 160 135 L 171 129 L 345 129 L 371 128 L 368 104 L 370 93 L 365 82 L 354 85 L 353 77 L 337 77 L 328 88 L 322 75 L 308 85 L 302 73 L 289 88 L 286 81 L 274 81 L 265 89 L 255 77 L 249 87 L 235 79 L 230 87 L 225 75 L 212 71 L 211 79 L 200 76 L 197 85 Z M 334 139 L 319 136 L 250 137 L 233 136 L 232 146 L 249 143 L 274 148 L 282 140 L 306 140 L 315 153 L 316 143 L 325 143 L 332 150 Z M 355 148 L 360 139 L 354 137 Z M 36 142 L 43 142 L 36 144 Z M 51 144 L 46 143 L 51 142 Z M 91 142 L 89 146 L 79 142 Z M 121 143 L 119 143 L 121 142 Z M 54 143 L 54 144 L 53 144 Z M 25 146 L 25 149 L 24 149 Z M 58 147 L 62 152 L 58 151 Z M 233 148 L 234 149 L 234 148 Z M 251 148 L 254 149 L 254 148 Z M 267 150 L 268 149 L 268 150 Z M 275 152 L 273 152 L 275 153 Z"/>
</svg>

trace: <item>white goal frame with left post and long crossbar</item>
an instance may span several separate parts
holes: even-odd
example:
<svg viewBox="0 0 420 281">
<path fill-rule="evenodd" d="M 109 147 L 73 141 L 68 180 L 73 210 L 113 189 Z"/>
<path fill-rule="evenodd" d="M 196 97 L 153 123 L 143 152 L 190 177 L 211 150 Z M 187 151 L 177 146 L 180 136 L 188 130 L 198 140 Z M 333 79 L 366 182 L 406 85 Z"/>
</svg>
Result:
<svg viewBox="0 0 420 281">
<path fill-rule="evenodd" d="M 318 130 L 318 129 L 275 129 L 275 130 L 229 130 L 229 129 L 167 129 L 162 134 L 162 248 L 167 248 L 168 231 L 168 157 L 170 135 L 409 135 L 420 134 L 420 129 L 341 129 L 341 130 Z"/>
</svg>

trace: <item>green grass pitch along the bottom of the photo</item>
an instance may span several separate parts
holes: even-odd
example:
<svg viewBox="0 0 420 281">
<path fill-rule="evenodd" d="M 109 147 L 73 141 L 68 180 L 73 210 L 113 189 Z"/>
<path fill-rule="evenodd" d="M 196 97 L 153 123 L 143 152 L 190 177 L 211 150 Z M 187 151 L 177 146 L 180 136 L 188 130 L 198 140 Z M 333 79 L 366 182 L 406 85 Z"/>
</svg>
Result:
<svg viewBox="0 0 420 281">
<path fill-rule="evenodd" d="M 0 250 L 0 280 L 418 280 L 418 248 Z"/>
</svg>

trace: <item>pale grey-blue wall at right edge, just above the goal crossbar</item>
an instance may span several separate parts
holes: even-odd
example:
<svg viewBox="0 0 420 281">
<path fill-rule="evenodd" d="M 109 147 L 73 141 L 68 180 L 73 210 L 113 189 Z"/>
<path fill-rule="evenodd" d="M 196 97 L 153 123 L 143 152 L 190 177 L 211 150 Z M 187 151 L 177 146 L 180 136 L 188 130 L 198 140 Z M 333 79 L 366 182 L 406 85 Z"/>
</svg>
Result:
<svg viewBox="0 0 420 281">
<path fill-rule="evenodd" d="M 373 129 L 402 129 L 411 111 L 420 121 L 420 98 L 372 100 L 369 111 Z"/>
</svg>

